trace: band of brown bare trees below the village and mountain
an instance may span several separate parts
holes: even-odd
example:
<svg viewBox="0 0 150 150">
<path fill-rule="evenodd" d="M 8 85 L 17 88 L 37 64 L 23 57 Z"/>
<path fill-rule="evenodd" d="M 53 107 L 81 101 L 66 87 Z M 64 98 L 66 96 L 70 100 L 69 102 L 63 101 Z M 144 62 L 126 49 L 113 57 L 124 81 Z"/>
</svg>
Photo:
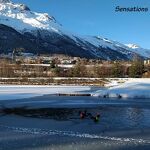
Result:
<svg viewBox="0 0 150 150">
<path fill-rule="evenodd" d="M 140 78 L 145 71 L 150 72 L 140 59 L 129 64 L 115 61 L 111 64 L 86 65 L 78 61 L 72 68 L 58 67 L 51 62 L 50 66 L 24 66 L 8 60 L 0 60 L 0 77 L 90 77 L 90 78 Z"/>
</svg>

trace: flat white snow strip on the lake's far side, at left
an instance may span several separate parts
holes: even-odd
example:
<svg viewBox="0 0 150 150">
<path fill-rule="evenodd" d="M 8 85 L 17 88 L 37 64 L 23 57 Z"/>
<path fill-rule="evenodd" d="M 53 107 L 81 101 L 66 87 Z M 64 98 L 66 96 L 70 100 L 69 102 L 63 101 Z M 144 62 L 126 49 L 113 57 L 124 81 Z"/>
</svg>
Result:
<svg viewBox="0 0 150 150">
<path fill-rule="evenodd" d="M 46 94 L 73 93 L 90 90 L 89 86 L 32 86 L 1 85 L 0 100 L 12 100 L 42 96 Z"/>
</svg>

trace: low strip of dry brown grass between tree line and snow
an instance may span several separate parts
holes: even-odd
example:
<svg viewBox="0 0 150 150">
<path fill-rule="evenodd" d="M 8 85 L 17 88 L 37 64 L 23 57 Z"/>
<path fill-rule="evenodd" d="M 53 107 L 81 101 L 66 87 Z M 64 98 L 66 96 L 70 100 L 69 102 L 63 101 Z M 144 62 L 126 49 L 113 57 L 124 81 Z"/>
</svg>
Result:
<svg viewBox="0 0 150 150">
<path fill-rule="evenodd" d="M 102 78 L 0 78 L 0 84 L 11 85 L 90 85 L 104 86 Z"/>
</svg>

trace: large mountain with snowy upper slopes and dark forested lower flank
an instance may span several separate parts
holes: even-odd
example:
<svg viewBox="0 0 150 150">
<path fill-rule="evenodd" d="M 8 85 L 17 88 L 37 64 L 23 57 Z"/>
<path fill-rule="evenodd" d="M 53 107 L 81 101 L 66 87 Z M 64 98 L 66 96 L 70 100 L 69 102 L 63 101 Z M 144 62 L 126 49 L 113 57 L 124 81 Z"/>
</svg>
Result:
<svg viewBox="0 0 150 150">
<path fill-rule="evenodd" d="M 129 60 L 143 51 L 100 36 L 67 32 L 53 16 L 37 13 L 24 4 L 0 0 L 0 53 L 24 48 L 30 53 L 66 54 L 107 60 Z M 150 56 L 150 55 L 149 55 Z"/>
</svg>

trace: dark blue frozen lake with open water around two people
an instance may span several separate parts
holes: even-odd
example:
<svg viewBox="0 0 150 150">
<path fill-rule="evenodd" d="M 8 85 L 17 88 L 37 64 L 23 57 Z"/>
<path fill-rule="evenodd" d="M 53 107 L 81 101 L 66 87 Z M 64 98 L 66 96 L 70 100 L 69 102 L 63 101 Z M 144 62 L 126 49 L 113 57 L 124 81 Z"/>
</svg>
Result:
<svg viewBox="0 0 150 150">
<path fill-rule="evenodd" d="M 0 150 L 150 149 L 149 99 L 41 96 L 1 101 Z M 15 107 L 15 109 L 14 109 Z M 90 117 L 80 119 L 86 110 Z"/>
</svg>

